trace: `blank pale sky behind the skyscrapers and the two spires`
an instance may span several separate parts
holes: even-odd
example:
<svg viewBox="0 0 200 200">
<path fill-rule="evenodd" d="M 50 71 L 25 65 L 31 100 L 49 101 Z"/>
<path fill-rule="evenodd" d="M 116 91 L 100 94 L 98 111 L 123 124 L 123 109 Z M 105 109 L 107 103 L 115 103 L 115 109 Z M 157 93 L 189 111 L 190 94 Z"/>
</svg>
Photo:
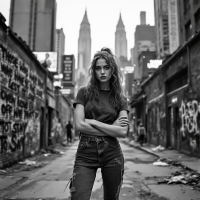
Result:
<svg viewBox="0 0 200 200">
<path fill-rule="evenodd" d="M 57 0 L 56 28 L 65 33 L 65 54 L 74 54 L 77 63 L 80 24 L 87 8 L 91 28 L 92 56 L 102 47 L 115 48 L 115 31 L 121 12 L 128 41 L 128 58 L 134 46 L 135 27 L 140 11 L 146 11 L 146 23 L 154 25 L 153 0 Z M 0 12 L 9 22 L 10 0 L 0 0 Z"/>
</svg>

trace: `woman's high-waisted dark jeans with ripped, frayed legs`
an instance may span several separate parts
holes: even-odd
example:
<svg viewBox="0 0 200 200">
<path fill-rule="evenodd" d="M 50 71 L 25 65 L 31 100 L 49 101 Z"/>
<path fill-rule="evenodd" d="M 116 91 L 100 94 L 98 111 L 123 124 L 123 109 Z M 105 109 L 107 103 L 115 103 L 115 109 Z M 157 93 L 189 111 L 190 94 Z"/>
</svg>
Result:
<svg viewBox="0 0 200 200">
<path fill-rule="evenodd" d="M 71 200 L 89 200 L 97 169 L 101 168 L 104 200 L 118 200 L 124 157 L 115 137 L 80 137 L 70 183 Z"/>
</svg>

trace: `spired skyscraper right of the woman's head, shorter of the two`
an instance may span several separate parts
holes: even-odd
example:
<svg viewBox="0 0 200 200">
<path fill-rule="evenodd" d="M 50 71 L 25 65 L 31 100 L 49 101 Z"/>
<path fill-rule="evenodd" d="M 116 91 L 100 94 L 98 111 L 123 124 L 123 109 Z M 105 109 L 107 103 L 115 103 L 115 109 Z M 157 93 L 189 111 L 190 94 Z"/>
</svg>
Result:
<svg viewBox="0 0 200 200">
<path fill-rule="evenodd" d="M 127 39 L 124 23 L 122 21 L 121 13 L 117 23 L 115 32 L 115 55 L 120 58 L 123 56 L 127 59 Z"/>
</svg>

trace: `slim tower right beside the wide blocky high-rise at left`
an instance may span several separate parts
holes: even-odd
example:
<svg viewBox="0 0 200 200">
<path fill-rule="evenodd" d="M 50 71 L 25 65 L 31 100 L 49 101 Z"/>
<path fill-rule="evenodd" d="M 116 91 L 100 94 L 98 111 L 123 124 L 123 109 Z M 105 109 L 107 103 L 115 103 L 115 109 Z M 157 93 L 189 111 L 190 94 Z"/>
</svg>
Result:
<svg viewBox="0 0 200 200">
<path fill-rule="evenodd" d="M 56 29 L 56 51 L 58 55 L 58 74 L 62 73 L 62 56 L 65 54 L 65 34 L 63 29 Z"/>
</svg>

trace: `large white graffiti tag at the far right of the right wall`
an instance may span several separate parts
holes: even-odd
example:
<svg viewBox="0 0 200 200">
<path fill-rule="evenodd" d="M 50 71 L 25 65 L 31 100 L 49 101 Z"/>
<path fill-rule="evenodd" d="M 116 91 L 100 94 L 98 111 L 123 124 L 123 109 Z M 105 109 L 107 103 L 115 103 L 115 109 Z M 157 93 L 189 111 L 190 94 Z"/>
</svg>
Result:
<svg viewBox="0 0 200 200">
<path fill-rule="evenodd" d="M 192 150 L 199 147 L 200 136 L 200 103 L 197 100 L 184 102 L 180 107 L 181 137 L 188 140 Z"/>
</svg>

